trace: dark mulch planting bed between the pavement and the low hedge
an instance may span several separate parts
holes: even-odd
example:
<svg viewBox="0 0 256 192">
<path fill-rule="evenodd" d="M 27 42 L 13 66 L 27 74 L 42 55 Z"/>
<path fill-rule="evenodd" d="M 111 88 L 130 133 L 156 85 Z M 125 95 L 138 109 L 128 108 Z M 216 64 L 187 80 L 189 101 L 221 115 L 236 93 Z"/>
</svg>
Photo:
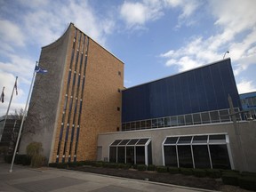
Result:
<svg viewBox="0 0 256 192">
<path fill-rule="evenodd" d="M 186 186 L 190 188 L 204 188 L 210 190 L 220 190 L 223 183 L 220 179 L 212 178 L 198 178 L 192 175 L 182 174 L 170 174 L 159 172 L 139 172 L 137 170 L 123 170 L 123 169 L 111 169 L 104 167 L 72 167 L 70 170 L 76 170 L 79 172 L 92 172 L 104 175 L 111 175 L 116 177 L 130 178 L 134 180 L 149 180 L 161 183 L 168 183 L 179 186 Z"/>
</svg>

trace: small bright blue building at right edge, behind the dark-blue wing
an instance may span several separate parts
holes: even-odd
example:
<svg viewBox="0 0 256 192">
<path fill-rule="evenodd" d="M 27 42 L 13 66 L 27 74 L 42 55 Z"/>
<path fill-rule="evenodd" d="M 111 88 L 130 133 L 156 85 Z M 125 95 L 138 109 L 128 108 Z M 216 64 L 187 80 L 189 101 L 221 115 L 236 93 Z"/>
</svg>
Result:
<svg viewBox="0 0 256 192">
<path fill-rule="evenodd" d="M 244 111 L 249 111 L 245 118 L 252 117 L 256 119 L 256 92 L 247 92 L 240 94 L 240 100 Z"/>
</svg>

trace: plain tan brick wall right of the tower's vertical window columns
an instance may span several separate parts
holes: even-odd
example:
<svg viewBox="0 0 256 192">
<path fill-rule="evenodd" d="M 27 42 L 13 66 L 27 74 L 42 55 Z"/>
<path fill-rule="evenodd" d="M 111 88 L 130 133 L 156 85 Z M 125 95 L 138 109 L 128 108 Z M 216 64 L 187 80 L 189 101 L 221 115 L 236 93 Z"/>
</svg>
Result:
<svg viewBox="0 0 256 192">
<path fill-rule="evenodd" d="M 123 87 L 124 64 L 90 39 L 77 160 L 95 160 L 98 134 L 121 128 Z"/>
</svg>

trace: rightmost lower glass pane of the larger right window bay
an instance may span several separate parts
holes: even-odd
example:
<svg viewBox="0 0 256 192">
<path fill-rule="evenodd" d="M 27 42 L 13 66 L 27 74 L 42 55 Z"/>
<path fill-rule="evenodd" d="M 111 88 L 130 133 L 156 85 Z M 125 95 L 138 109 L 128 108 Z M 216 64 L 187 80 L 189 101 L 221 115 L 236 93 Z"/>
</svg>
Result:
<svg viewBox="0 0 256 192">
<path fill-rule="evenodd" d="M 227 145 L 210 145 L 213 169 L 231 169 Z"/>
</svg>

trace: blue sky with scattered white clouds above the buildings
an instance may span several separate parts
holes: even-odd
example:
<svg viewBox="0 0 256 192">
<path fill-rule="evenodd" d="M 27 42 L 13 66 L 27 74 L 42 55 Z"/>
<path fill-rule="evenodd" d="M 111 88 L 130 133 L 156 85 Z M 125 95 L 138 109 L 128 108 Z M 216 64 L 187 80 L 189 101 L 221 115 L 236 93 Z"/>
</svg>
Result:
<svg viewBox="0 0 256 192">
<path fill-rule="evenodd" d="M 230 58 L 239 93 L 256 91 L 255 0 L 0 0 L 0 90 L 25 107 L 41 48 L 70 22 L 124 61 L 132 87 Z M 47 68 L 46 68 L 47 69 Z"/>
</svg>

